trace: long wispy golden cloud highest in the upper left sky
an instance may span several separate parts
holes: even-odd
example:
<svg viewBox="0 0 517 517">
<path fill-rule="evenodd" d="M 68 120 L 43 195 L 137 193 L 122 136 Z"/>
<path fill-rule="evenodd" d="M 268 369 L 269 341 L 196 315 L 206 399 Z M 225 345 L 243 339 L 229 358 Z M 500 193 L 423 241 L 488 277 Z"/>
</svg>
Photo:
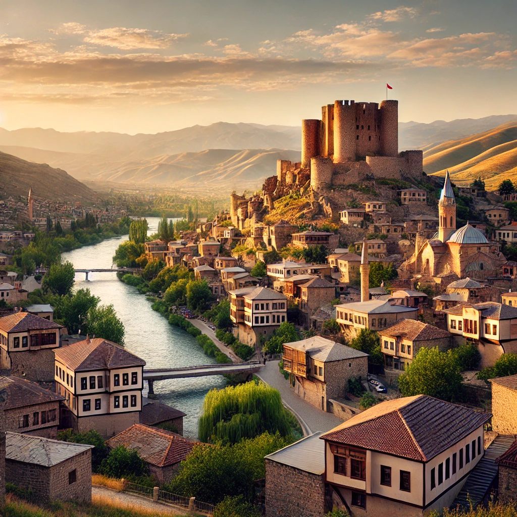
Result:
<svg viewBox="0 0 517 517">
<path fill-rule="evenodd" d="M 120 50 L 166 49 L 172 42 L 187 36 L 188 34 L 164 34 L 149 29 L 111 27 L 89 31 L 84 41 Z"/>
</svg>

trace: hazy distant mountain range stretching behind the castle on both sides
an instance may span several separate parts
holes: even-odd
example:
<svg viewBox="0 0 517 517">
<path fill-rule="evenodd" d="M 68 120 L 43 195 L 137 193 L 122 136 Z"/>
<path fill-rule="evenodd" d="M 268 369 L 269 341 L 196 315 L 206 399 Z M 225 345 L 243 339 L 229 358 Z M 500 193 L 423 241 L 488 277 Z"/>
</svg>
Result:
<svg viewBox="0 0 517 517">
<path fill-rule="evenodd" d="M 400 123 L 399 148 L 423 149 L 424 171 L 439 173 L 498 145 L 496 142 L 511 141 L 504 140 L 511 139 L 511 136 L 493 136 L 490 137 L 494 139 L 493 145 L 489 142 L 483 147 L 479 143 L 471 143 L 464 147 L 466 142 L 463 140 L 476 140 L 470 136 L 473 133 L 491 133 L 491 128 L 495 127 L 493 131 L 496 131 L 513 125 L 517 125 L 517 115 L 450 122 L 436 120 L 431 124 Z M 92 185 L 90 182 L 109 182 L 257 188 L 265 177 L 276 173 L 277 159 L 300 160 L 300 132 L 300 127 L 295 126 L 223 122 L 136 135 L 86 131 L 62 133 L 41 128 L 7 131 L 0 128 L 0 150 L 27 161 L 64 169 L 89 185 Z M 462 150 L 453 149 L 458 145 Z M 475 155 L 472 154 L 474 149 L 478 149 Z M 470 173 L 474 174 L 470 171 L 466 175 Z"/>
</svg>

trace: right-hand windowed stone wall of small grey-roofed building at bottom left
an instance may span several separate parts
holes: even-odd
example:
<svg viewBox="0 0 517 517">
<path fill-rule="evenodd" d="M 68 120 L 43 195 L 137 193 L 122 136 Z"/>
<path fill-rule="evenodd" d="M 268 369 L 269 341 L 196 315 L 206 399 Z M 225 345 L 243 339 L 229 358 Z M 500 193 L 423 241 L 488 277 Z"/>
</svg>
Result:
<svg viewBox="0 0 517 517">
<path fill-rule="evenodd" d="M 75 470 L 76 481 L 69 483 L 69 473 Z M 50 468 L 50 498 L 81 503 L 92 502 L 92 449 Z"/>
</svg>

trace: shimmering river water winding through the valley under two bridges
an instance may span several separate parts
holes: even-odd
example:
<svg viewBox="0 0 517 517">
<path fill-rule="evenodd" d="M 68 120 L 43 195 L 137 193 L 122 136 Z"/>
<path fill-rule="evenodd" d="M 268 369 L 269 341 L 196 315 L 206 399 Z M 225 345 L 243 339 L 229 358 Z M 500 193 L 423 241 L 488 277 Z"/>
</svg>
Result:
<svg viewBox="0 0 517 517">
<path fill-rule="evenodd" d="M 159 218 L 148 217 L 149 234 L 155 233 Z M 111 268 L 118 245 L 128 236 L 104 240 L 94 246 L 63 253 L 76 269 Z M 147 368 L 180 368 L 197 364 L 215 363 L 207 357 L 195 338 L 184 330 L 169 325 L 166 318 L 151 309 L 151 304 L 136 289 L 117 279 L 115 273 L 84 273 L 75 276 L 74 290 L 88 288 L 100 298 L 100 303 L 113 303 L 126 328 L 125 348 L 146 361 Z M 155 382 L 155 393 L 164 404 L 171 405 L 187 416 L 183 420 L 184 435 L 197 437 L 197 420 L 208 390 L 222 388 L 226 381 L 222 376 L 169 379 Z M 146 396 L 147 388 L 144 389 Z"/>
</svg>

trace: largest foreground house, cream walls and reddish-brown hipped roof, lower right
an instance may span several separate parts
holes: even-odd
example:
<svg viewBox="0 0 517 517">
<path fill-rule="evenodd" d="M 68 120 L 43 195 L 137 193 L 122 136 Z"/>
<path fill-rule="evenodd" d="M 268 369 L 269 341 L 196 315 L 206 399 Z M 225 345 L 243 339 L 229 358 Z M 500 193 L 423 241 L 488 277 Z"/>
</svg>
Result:
<svg viewBox="0 0 517 517">
<path fill-rule="evenodd" d="M 483 457 L 490 417 L 425 395 L 376 404 L 322 435 L 329 497 L 354 515 L 442 511 Z"/>
</svg>

